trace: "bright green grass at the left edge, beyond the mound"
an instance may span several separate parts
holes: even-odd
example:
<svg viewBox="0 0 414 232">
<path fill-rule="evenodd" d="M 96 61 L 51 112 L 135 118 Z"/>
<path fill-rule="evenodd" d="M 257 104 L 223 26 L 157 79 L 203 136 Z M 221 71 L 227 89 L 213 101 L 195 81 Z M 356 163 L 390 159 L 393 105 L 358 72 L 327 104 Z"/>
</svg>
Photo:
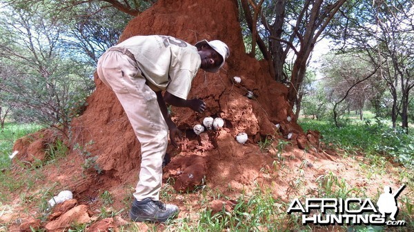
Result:
<svg viewBox="0 0 414 232">
<path fill-rule="evenodd" d="M 41 128 L 41 125 L 34 123 L 5 123 L 4 128 L 0 129 L 0 169 L 10 166 L 9 156 L 12 154 L 14 142 Z"/>
</svg>

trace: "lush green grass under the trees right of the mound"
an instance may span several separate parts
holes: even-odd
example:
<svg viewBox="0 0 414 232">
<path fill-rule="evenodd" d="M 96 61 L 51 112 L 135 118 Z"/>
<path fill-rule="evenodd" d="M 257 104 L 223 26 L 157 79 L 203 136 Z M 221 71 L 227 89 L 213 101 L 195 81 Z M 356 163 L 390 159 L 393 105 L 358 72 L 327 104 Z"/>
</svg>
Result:
<svg viewBox="0 0 414 232">
<path fill-rule="evenodd" d="M 328 147 L 344 149 L 349 154 L 359 150 L 371 156 L 388 156 L 406 167 L 414 165 L 414 136 L 393 129 L 388 120 L 348 120 L 344 126 L 335 127 L 328 120 L 302 119 L 299 125 L 304 131 L 320 131 Z"/>
</svg>

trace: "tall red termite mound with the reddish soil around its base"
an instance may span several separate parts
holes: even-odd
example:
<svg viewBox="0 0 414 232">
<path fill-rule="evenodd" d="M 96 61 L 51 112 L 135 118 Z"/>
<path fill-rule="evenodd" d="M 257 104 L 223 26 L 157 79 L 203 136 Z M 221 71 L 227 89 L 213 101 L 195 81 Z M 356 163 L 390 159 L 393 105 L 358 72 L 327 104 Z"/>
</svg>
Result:
<svg viewBox="0 0 414 232">
<path fill-rule="evenodd" d="M 159 0 L 130 21 L 121 41 L 144 34 L 168 34 L 192 44 L 220 39 L 230 48 L 230 58 L 219 73 L 200 70 L 193 81 L 188 98 L 201 98 L 207 104 L 206 111 L 198 114 L 190 109 L 171 109 L 172 119 L 185 136 L 179 148 L 168 147 L 172 158 L 164 168 L 164 182 L 174 180 L 172 187 L 177 193 L 170 203 L 180 207 L 181 215 L 189 213 L 185 205 L 191 204 L 191 194 L 197 194 L 193 190 L 203 184 L 230 198 L 251 192 L 258 184 L 286 202 L 295 196 L 312 196 L 317 191 L 317 178 L 331 172 L 351 187 L 364 189 L 367 196 L 375 196 L 384 185 L 400 187 L 400 179 L 391 173 L 366 178 L 366 169 L 360 165 L 366 162 L 363 154 L 347 158 L 340 151 L 329 151 L 319 143 L 316 131 L 303 131 L 297 125 L 286 101 L 287 87 L 272 80 L 266 63 L 245 53 L 235 1 Z M 242 82 L 236 83 L 235 76 Z M 10 222 L 10 231 L 24 231 L 37 224 L 48 231 L 61 231 L 74 218 L 94 222 L 103 204 L 99 196 L 105 191 L 112 196 L 113 209 L 130 204 L 139 173 L 140 145 L 115 94 L 96 75 L 95 83 L 86 111 L 72 122 L 72 140 L 67 143 L 70 154 L 37 169 L 42 178 L 28 190 L 38 196 L 42 187 L 56 193 L 68 189 L 75 200 L 58 205 L 40 222 L 35 220 L 38 209 L 28 209 L 16 195 L 0 217 L 2 223 Z M 246 96 L 248 91 L 254 93 L 253 98 Z M 206 116 L 221 117 L 225 125 L 197 136 L 193 126 Z M 245 144 L 235 140 L 240 132 L 248 135 Z M 46 144 L 55 139 L 54 133 L 45 130 L 18 140 L 16 158 L 27 162 L 41 159 Z M 279 141 L 289 143 L 281 149 Z M 259 144 L 264 143 L 267 146 L 261 149 Z M 17 177 L 21 173 L 15 171 Z M 124 212 L 115 219 L 99 220 L 88 231 L 107 230 L 126 221 Z"/>
</svg>

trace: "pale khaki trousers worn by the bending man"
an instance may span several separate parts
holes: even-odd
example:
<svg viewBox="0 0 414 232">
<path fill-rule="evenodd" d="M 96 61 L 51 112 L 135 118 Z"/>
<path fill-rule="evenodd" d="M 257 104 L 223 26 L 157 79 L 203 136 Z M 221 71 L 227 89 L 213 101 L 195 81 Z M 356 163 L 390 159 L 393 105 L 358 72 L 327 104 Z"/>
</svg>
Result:
<svg viewBox="0 0 414 232">
<path fill-rule="evenodd" d="M 117 95 L 141 143 L 141 171 L 134 196 L 137 200 L 159 200 L 168 126 L 159 109 L 157 95 L 146 85 L 137 63 L 122 52 L 104 53 L 99 58 L 97 72 Z"/>
</svg>

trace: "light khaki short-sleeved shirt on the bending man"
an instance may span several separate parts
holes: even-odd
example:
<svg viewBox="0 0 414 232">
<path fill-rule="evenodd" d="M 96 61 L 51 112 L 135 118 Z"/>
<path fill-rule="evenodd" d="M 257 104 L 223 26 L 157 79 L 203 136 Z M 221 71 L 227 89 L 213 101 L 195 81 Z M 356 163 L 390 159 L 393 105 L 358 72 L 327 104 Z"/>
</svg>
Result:
<svg viewBox="0 0 414 232">
<path fill-rule="evenodd" d="M 154 91 L 166 90 L 187 99 L 201 65 L 195 46 L 172 36 L 133 36 L 115 47 L 127 48 Z"/>
</svg>

